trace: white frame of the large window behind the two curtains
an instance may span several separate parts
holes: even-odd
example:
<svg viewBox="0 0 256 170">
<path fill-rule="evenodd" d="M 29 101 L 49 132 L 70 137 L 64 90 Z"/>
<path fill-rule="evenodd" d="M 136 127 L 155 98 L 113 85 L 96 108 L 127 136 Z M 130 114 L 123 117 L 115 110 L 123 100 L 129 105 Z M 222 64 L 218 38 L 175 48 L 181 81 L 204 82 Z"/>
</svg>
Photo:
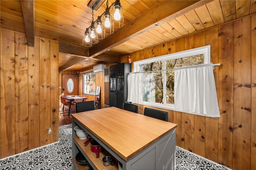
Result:
<svg viewBox="0 0 256 170">
<path fill-rule="evenodd" d="M 150 59 L 144 59 L 144 60 L 140 60 L 140 61 L 135 61 L 133 63 L 133 68 L 134 68 L 134 72 L 139 72 L 140 68 L 139 65 L 144 64 L 144 63 L 152 63 L 155 61 L 163 61 L 163 70 L 166 69 L 166 61 L 171 60 L 171 59 L 178 59 L 178 58 L 183 58 L 183 57 L 189 57 L 189 56 L 194 56 L 194 55 L 200 55 L 200 54 L 204 54 L 204 64 L 208 64 L 210 63 L 210 45 L 206 45 L 203 47 L 198 47 L 198 48 L 194 48 L 194 49 L 188 49 L 185 51 L 180 51 L 180 52 L 176 52 L 176 53 L 171 53 L 171 54 L 166 54 L 166 55 L 162 55 L 159 57 L 154 57 L 154 58 L 150 58 Z M 174 104 L 168 104 L 166 103 L 166 71 L 163 71 L 163 79 L 164 79 L 164 83 L 163 83 L 163 90 L 164 90 L 164 94 L 163 94 L 163 104 L 162 103 L 153 103 L 153 102 L 148 102 L 148 101 L 143 101 L 143 105 L 147 105 L 147 106 L 152 106 L 152 107 L 159 107 L 159 108 L 163 108 L 163 109 L 174 109 Z"/>
</svg>

